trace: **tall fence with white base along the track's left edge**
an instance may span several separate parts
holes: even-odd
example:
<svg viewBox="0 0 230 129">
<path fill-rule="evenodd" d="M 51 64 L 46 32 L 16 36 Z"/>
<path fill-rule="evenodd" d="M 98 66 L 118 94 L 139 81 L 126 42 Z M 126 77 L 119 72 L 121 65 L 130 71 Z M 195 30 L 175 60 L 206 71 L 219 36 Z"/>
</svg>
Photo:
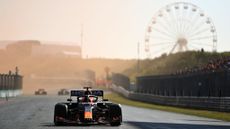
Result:
<svg viewBox="0 0 230 129">
<path fill-rule="evenodd" d="M 0 97 L 14 97 L 22 94 L 22 76 L 15 74 L 0 74 Z"/>
</svg>

